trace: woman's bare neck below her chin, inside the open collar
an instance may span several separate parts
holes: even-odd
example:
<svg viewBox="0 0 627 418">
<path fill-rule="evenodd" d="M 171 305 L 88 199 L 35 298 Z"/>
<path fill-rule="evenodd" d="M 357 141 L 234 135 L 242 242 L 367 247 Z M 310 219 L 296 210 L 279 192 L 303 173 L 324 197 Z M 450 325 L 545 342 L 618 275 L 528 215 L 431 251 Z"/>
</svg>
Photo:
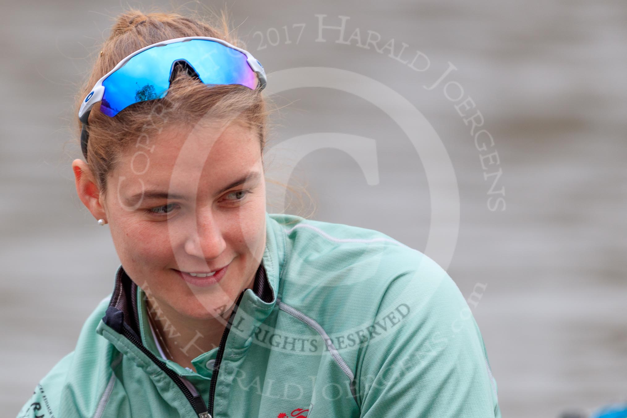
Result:
<svg viewBox="0 0 627 418">
<path fill-rule="evenodd" d="M 252 289 L 255 276 L 242 290 Z M 181 315 L 166 303 L 160 303 L 146 295 L 146 310 L 159 345 L 167 358 L 189 367 L 194 372 L 191 360 L 218 347 L 235 301 L 220 314 L 219 318 L 199 320 Z"/>
</svg>

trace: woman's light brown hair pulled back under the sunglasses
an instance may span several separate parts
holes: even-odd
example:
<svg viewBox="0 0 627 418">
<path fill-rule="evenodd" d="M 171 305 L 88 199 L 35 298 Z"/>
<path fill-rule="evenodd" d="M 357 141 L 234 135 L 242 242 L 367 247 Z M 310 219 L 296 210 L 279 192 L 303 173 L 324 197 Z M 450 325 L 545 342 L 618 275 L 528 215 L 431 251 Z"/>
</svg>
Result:
<svg viewBox="0 0 627 418">
<path fill-rule="evenodd" d="M 144 14 L 137 9 L 129 9 L 119 14 L 115 18 L 108 39 L 100 48 L 91 75 L 76 96 L 75 115 L 78 114 L 83 98 L 87 97 L 93 85 L 125 56 L 144 46 L 185 36 L 211 36 L 245 48 L 233 31 L 229 30 L 226 11 L 219 17 L 219 26 L 218 29 L 199 18 L 192 19 L 177 13 Z M 157 132 L 166 123 L 192 125 L 206 117 L 208 110 L 216 117 L 232 118 L 232 115 L 238 115 L 237 122 L 254 128 L 258 133 L 263 155 L 268 137 L 267 118 L 270 114 L 267 108 L 266 100 L 259 89 L 251 90 L 240 85 L 209 87 L 199 83 L 186 72 L 180 71 L 172 81 L 166 97 L 160 100 L 134 103 L 115 117 L 108 117 L 100 112 L 100 105 L 94 106 L 87 125 L 89 135 L 87 164 L 98 189 L 105 196 L 108 174 L 115 170 L 121 155 L 131 145 L 137 144 L 141 135 Z M 170 112 L 171 110 L 174 112 Z M 164 112 L 167 113 L 167 117 L 163 117 Z M 82 125 L 78 117 L 76 122 L 80 132 Z M 298 196 L 298 192 L 292 187 L 273 183 L 289 189 Z M 306 191 L 305 193 L 307 194 Z M 302 197 L 298 196 L 298 199 L 302 207 Z"/>
</svg>

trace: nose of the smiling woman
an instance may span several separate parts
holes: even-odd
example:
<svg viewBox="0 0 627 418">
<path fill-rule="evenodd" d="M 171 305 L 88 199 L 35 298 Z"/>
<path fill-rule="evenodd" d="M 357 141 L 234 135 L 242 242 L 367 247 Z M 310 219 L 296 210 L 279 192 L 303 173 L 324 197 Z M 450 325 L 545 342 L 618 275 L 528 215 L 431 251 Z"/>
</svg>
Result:
<svg viewBox="0 0 627 418">
<path fill-rule="evenodd" d="M 212 260 L 226 249 L 221 227 L 211 214 L 211 209 L 198 209 L 196 230 L 192 230 L 185 243 L 187 254 Z"/>
</svg>

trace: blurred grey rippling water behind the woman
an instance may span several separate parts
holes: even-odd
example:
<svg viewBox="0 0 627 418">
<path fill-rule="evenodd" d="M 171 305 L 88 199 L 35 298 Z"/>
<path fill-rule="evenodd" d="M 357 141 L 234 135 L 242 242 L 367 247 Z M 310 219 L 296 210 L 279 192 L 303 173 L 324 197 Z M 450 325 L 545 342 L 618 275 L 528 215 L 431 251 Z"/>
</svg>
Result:
<svg viewBox="0 0 627 418">
<path fill-rule="evenodd" d="M 8 416 L 73 349 L 119 266 L 107 228 L 76 197 L 70 168 L 82 157 L 72 109 L 90 54 L 127 5 L 149 11 L 181 4 L 3 4 L 0 406 Z M 201 13 L 224 6 L 185 4 Z M 226 6 L 268 73 L 300 66 L 353 71 L 402 95 L 438 133 L 460 196 L 459 236 L 447 270 L 466 297 L 478 283 L 487 286 L 472 308 L 503 417 L 557 417 L 627 401 L 627 3 L 240 0 Z M 390 39 L 394 54 L 408 46 L 395 60 L 390 50 L 336 43 L 335 29 L 324 29 L 325 42 L 316 42 L 317 14 L 332 26 L 348 16 L 345 39 L 359 28 L 362 43 L 372 31 L 381 37 L 379 48 Z M 428 69 L 401 63 L 416 50 L 428 56 Z M 454 107 L 459 102 L 442 85 L 424 88 L 449 63 L 457 70 L 448 80 L 463 86 L 461 100 L 472 97 L 495 140 L 487 152 L 475 147 Z M 337 149 L 315 150 L 297 162 L 290 185 L 306 185 L 316 207 L 311 217 L 378 229 L 423 251 L 430 221 L 425 170 L 392 118 L 329 88 L 284 91 L 277 103 L 287 107 L 275 119 L 273 144 L 319 132 L 376 140 L 377 184 L 367 184 L 355 160 Z M 499 164 L 483 169 L 489 161 L 481 156 L 490 152 L 498 152 Z M 484 176 L 499 169 L 495 190 L 504 196 L 490 195 L 494 176 Z M 492 211 L 488 199 L 498 196 L 504 204 Z"/>
</svg>

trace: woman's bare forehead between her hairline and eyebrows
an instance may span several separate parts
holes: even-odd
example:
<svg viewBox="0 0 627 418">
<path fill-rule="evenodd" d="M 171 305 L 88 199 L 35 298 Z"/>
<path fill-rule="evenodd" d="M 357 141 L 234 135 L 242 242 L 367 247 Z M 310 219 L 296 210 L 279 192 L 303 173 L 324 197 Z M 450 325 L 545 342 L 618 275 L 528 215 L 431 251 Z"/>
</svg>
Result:
<svg viewBox="0 0 627 418">
<path fill-rule="evenodd" d="M 261 147 L 253 129 L 212 122 L 142 135 L 122 155 L 112 177 L 114 184 L 125 184 L 119 187 L 122 196 L 152 187 L 193 193 L 217 189 L 260 167 Z"/>
</svg>

